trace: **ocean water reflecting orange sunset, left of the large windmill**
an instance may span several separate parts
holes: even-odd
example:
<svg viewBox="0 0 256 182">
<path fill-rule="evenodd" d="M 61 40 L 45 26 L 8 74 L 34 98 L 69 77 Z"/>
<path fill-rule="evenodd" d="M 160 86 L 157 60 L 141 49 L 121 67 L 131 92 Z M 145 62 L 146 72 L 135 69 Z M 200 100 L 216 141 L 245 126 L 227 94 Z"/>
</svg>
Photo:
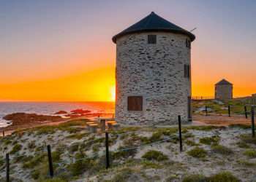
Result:
<svg viewBox="0 0 256 182">
<path fill-rule="evenodd" d="M 114 103 L 111 102 L 0 102 L 0 127 L 10 124 L 3 119 L 4 116 L 16 112 L 53 115 L 58 111 L 83 109 L 91 113 L 113 113 L 114 108 Z"/>
</svg>

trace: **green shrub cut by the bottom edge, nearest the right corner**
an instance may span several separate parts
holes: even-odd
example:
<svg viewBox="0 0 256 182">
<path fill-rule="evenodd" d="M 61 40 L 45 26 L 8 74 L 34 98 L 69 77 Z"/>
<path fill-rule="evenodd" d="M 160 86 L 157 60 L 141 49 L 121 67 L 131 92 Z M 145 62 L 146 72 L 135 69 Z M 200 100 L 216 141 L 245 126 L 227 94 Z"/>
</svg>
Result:
<svg viewBox="0 0 256 182">
<path fill-rule="evenodd" d="M 230 172 L 222 172 L 216 175 L 211 175 L 208 178 L 208 181 L 209 182 L 239 182 L 240 180 Z"/>
</svg>

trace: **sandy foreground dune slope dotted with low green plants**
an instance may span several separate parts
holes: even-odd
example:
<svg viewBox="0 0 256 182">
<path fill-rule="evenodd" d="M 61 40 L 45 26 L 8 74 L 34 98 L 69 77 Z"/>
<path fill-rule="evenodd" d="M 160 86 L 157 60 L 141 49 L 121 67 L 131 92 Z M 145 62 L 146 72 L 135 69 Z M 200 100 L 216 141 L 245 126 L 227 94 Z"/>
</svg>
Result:
<svg viewBox="0 0 256 182">
<path fill-rule="evenodd" d="M 184 151 L 179 152 L 177 127 L 124 127 L 110 132 L 110 169 L 105 170 L 105 135 L 90 133 L 84 124 L 81 120 L 52 128 L 37 127 L 0 138 L 0 181 L 5 176 L 4 155 L 11 151 L 11 176 L 20 178 L 16 181 L 236 182 L 235 176 L 245 181 L 254 178 L 255 139 L 251 135 L 237 133 L 223 140 L 222 135 L 210 135 L 212 130 L 226 132 L 222 128 L 188 126 L 182 130 Z M 202 131 L 205 137 L 200 135 Z M 47 145 L 52 149 L 52 179 L 48 174 Z M 200 167 L 202 174 L 231 167 L 235 172 L 187 175 L 195 171 L 190 166 Z"/>
</svg>

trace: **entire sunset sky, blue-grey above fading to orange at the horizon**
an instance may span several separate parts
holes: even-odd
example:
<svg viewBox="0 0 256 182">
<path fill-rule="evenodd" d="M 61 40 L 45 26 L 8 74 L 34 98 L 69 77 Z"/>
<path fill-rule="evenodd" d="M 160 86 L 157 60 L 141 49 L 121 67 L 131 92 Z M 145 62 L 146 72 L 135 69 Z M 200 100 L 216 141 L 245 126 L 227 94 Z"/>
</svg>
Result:
<svg viewBox="0 0 256 182">
<path fill-rule="evenodd" d="M 233 83 L 235 97 L 251 95 L 255 8 L 255 1 L 219 0 L 1 1 L 0 101 L 113 100 L 111 38 L 151 11 L 187 30 L 197 27 L 192 95 L 214 95 L 223 78 Z"/>
</svg>

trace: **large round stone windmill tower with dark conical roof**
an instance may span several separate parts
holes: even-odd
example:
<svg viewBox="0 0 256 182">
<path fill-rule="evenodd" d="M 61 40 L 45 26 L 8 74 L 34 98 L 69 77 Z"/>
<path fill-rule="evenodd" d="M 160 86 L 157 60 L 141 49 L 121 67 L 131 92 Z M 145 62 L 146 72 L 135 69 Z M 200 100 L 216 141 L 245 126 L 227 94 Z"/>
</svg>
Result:
<svg viewBox="0 0 256 182">
<path fill-rule="evenodd" d="M 195 36 L 154 12 L 113 36 L 116 121 L 171 124 L 191 119 L 191 42 Z"/>
</svg>

